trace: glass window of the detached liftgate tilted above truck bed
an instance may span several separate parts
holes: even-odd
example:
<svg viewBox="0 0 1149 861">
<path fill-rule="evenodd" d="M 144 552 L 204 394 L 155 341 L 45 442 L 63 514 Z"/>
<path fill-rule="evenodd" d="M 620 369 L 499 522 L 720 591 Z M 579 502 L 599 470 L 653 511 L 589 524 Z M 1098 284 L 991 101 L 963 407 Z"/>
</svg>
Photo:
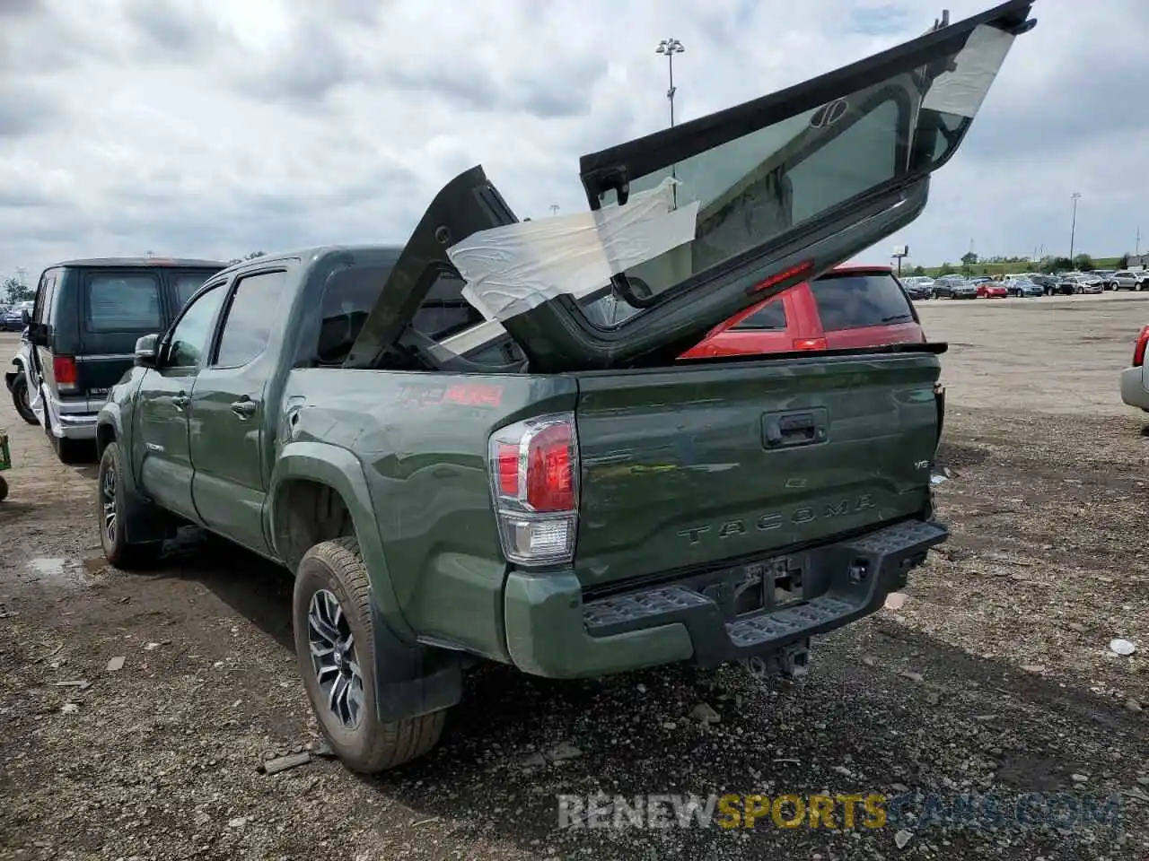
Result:
<svg viewBox="0 0 1149 861">
<path fill-rule="evenodd" d="M 966 53 L 976 38 L 993 41 L 1000 36 L 979 28 L 963 51 L 932 69 L 951 64 L 962 70 L 973 62 Z M 1004 54 L 996 63 L 1002 59 Z M 984 65 L 986 57 L 977 62 Z M 996 72 L 996 64 L 982 71 Z M 708 270 L 750 258 L 756 248 L 847 201 L 944 161 L 972 122 L 993 73 L 972 84 L 963 79 L 959 87 L 949 73 L 932 86 L 924 83 L 928 80 L 923 69 L 897 75 L 630 177 L 630 195 L 677 180 L 674 207 L 697 207 L 696 230 L 692 241 L 626 269 L 617 279 L 619 288 L 640 300 L 658 296 Z M 614 192 L 599 199 L 616 202 Z"/>
</svg>

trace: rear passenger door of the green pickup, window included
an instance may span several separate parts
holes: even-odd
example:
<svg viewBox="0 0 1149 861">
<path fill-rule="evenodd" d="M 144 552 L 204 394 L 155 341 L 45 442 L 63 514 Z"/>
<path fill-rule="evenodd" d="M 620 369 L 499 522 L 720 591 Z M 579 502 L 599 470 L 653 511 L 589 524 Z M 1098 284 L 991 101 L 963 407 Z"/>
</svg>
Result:
<svg viewBox="0 0 1149 861">
<path fill-rule="evenodd" d="M 195 509 L 209 529 L 259 553 L 271 552 L 263 503 L 278 413 L 265 409 L 265 397 L 282 360 L 268 348 L 271 333 L 286 325 L 280 300 L 290 274 L 279 269 L 237 278 L 211 360 L 191 393 Z"/>
</svg>

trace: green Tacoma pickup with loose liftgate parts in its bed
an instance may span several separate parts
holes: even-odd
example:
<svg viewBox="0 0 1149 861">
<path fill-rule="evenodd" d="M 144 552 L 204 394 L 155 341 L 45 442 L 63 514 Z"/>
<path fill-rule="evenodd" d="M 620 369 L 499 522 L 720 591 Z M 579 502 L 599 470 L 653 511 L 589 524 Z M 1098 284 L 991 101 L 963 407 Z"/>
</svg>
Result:
<svg viewBox="0 0 1149 861">
<path fill-rule="evenodd" d="M 947 536 L 944 344 L 679 357 L 912 222 L 1028 13 L 584 156 L 584 214 L 519 222 L 473 168 L 402 247 L 209 277 L 99 413 L 108 560 L 192 523 L 283 564 L 361 771 L 431 750 L 483 660 L 802 673 Z"/>
</svg>

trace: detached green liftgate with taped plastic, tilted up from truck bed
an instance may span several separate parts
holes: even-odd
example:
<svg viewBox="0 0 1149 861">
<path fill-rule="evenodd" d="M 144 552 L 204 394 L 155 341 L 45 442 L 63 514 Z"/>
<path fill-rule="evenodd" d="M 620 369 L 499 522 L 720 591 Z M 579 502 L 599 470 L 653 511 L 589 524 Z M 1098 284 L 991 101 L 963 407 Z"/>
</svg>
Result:
<svg viewBox="0 0 1149 861">
<path fill-rule="evenodd" d="M 586 155 L 589 217 L 487 230 L 449 256 L 532 371 L 670 364 L 722 320 L 912 222 L 1015 37 L 1032 29 L 1030 8 L 1012 0 Z M 639 309 L 617 326 L 579 303 L 595 298 L 600 273 Z"/>
</svg>

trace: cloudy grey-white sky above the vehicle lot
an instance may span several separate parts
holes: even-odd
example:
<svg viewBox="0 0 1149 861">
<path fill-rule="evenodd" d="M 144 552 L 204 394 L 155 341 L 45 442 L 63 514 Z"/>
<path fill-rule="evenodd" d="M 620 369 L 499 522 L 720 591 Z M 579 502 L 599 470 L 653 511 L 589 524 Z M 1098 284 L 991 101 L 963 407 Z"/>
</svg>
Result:
<svg viewBox="0 0 1149 861">
<path fill-rule="evenodd" d="M 402 241 L 483 163 L 519 217 L 578 157 L 921 33 L 921 0 L 0 0 L 0 278 L 146 251 Z M 990 5 L 948 0 L 958 20 Z M 1088 14 L 1085 13 L 1088 7 Z M 545 10 L 545 11 L 541 11 Z M 912 262 L 1149 248 L 1149 2 L 1038 0 Z"/>
</svg>

